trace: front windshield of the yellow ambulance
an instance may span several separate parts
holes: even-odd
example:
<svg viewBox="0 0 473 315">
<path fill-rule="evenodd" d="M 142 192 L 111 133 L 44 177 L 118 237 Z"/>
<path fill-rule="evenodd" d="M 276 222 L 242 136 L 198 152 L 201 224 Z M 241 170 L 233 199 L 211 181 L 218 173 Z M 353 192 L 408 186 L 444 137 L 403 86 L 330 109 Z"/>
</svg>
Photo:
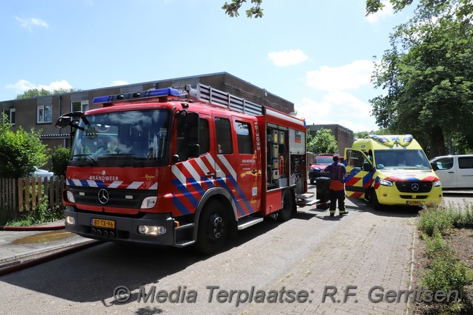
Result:
<svg viewBox="0 0 473 315">
<path fill-rule="evenodd" d="M 374 161 L 378 169 L 429 170 L 431 168 L 422 150 L 375 150 Z"/>
</svg>

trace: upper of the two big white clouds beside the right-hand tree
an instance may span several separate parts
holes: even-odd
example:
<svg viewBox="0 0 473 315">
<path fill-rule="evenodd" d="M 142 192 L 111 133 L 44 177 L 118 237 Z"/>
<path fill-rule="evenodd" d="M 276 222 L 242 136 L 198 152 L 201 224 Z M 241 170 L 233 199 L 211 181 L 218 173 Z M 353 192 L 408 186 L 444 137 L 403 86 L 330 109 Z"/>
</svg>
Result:
<svg viewBox="0 0 473 315">
<path fill-rule="evenodd" d="M 355 60 L 341 67 L 322 66 L 305 74 L 307 86 L 317 90 L 355 90 L 369 84 L 374 70 L 373 62 Z"/>
</svg>

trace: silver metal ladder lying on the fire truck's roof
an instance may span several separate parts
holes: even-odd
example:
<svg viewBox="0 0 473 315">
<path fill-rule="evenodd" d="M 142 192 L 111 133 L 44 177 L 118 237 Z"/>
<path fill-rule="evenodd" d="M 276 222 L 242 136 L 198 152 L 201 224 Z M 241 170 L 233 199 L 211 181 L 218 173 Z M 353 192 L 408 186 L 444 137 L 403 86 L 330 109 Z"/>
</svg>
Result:
<svg viewBox="0 0 473 315">
<path fill-rule="evenodd" d="M 236 97 L 230 93 L 217 90 L 211 86 L 205 86 L 202 83 L 198 83 L 197 88 L 192 88 L 190 85 L 186 86 L 186 92 L 191 99 L 197 99 L 198 101 L 221 106 L 239 113 L 248 115 L 264 114 L 264 106 L 247 101 L 241 97 Z"/>
</svg>

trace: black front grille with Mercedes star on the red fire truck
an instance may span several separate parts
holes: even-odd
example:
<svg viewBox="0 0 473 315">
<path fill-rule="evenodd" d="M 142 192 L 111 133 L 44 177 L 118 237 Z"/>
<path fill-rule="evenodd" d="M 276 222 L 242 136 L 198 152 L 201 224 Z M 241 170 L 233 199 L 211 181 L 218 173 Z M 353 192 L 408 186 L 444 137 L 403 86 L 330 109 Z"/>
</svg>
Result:
<svg viewBox="0 0 473 315">
<path fill-rule="evenodd" d="M 108 199 L 99 199 L 99 191 L 102 188 L 96 187 L 73 187 L 68 186 L 67 190 L 74 195 L 74 199 L 79 204 L 90 204 L 93 206 L 106 206 L 117 208 L 140 209 L 145 197 L 157 195 L 156 190 L 147 189 L 106 189 Z"/>
</svg>

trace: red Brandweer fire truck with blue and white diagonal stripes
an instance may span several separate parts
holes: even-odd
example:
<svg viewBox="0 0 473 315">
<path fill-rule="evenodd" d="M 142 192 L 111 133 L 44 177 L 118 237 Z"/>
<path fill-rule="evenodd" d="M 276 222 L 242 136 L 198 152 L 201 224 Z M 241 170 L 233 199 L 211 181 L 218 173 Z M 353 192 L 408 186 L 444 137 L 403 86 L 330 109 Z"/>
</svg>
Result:
<svg viewBox="0 0 473 315">
<path fill-rule="evenodd" d="M 67 231 L 216 252 L 307 193 L 303 120 L 209 86 L 95 97 L 61 116 L 75 131 L 63 191 Z"/>
</svg>

